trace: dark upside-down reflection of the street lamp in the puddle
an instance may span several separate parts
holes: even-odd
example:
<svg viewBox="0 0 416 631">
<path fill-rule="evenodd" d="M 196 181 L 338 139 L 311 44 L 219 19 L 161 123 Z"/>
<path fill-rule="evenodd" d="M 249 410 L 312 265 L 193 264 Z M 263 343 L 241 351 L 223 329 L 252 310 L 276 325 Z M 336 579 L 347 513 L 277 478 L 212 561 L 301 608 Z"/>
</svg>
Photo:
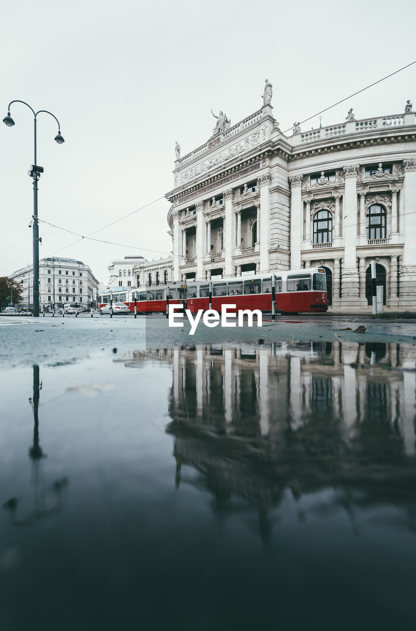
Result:
<svg viewBox="0 0 416 631">
<path fill-rule="evenodd" d="M 39 367 L 37 364 L 33 365 L 33 398 L 29 399 L 29 403 L 32 405 L 33 410 L 33 445 L 29 447 L 29 457 L 32 460 L 33 471 L 33 504 L 32 510 L 29 510 L 25 517 L 20 519 L 16 517 L 16 510 L 20 500 L 16 497 L 11 497 L 7 502 L 3 504 L 3 508 L 9 510 L 11 513 L 11 522 L 14 526 L 31 526 L 40 517 L 47 517 L 55 514 L 62 509 L 62 497 L 61 491 L 67 487 L 67 478 L 60 478 L 55 480 L 52 487 L 49 490 L 45 489 L 45 482 L 40 479 L 40 460 L 44 456 L 42 447 L 39 444 L 39 392 L 42 390 L 42 382 L 39 381 Z M 53 498 L 51 501 L 51 497 Z"/>
</svg>

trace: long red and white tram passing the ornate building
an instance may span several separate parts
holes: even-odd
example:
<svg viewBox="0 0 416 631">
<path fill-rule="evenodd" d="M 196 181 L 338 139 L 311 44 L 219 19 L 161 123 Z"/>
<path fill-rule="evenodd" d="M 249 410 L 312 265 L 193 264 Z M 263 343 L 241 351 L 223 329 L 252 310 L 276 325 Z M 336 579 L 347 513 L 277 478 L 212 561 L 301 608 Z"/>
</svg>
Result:
<svg viewBox="0 0 416 631">
<path fill-rule="evenodd" d="M 272 274 L 242 276 L 212 281 L 187 281 L 187 285 L 170 283 L 148 289 L 128 288 L 127 292 L 103 294 L 102 304 L 110 299 L 125 302 L 137 313 L 166 313 L 167 303 L 186 305 L 191 312 L 210 308 L 222 310 L 222 305 L 236 309 L 272 309 Z M 275 309 L 282 313 L 322 313 L 328 309 L 326 276 L 323 268 L 279 271 L 274 274 Z M 211 296 L 210 296 L 211 294 Z"/>
</svg>

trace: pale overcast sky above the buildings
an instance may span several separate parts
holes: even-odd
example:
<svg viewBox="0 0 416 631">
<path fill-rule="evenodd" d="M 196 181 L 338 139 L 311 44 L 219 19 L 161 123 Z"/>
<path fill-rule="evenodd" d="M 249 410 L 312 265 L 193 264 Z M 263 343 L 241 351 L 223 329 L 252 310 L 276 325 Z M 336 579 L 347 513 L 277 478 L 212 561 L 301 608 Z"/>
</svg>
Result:
<svg viewBox="0 0 416 631">
<path fill-rule="evenodd" d="M 38 116 L 39 218 L 88 235 L 163 198 L 182 156 L 205 143 L 216 114 L 235 124 L 262 105 L 265 78 L 282 130 L 415 61 L 416 3 L 214 0 L 16 0 L 3 10 L 0 95 Z M 416 107 L 416 64 L 325 112 L 322 124 Z M 0 276 L 32 263 L 33 115 L 14 103 L 0 127 Z M 319 119 L 302 126 L 318 127 Z M 106 281 L 126 254 L 170 252 L 166 199 L 96 233 L 118 247 L 40 224 L 40 257 L 81 259 Z M 72 244 L 72 245 L 70 245 Z M 146 249 L 145 249 L 146 248 Z M 154 251 L 150 251 L 154 250 Z"/>
</svg>

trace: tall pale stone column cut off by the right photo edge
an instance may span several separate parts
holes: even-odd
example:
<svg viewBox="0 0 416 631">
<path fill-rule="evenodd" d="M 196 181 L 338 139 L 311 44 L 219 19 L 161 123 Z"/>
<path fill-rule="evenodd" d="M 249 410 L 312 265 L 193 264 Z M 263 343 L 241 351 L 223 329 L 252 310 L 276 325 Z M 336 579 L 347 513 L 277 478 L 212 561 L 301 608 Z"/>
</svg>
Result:
<svg viewBox="0 0 416 631">
<path fill-rule="evenodd" d="M 416 199 L 416 158 L 403 160 L 405 167 L 405 180 L 401 197 L 400 216 L 402 227 L 400 232 L 405 237 L 403 247 L 402 267 L 400 269 L 400 306 L 402 309 L 414 309 L 416 286 L 416 213 L 414 204 Z"/>
</svg>

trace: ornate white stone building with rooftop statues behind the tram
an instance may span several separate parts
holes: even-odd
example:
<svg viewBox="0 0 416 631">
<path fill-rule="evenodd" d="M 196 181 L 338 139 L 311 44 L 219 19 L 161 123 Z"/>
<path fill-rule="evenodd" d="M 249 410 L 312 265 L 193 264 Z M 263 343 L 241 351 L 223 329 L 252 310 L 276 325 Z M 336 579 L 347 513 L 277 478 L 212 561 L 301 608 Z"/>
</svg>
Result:
<svg viewBox="0 0 416 631">
<path fill-rule="evenodd" d="M 266 85 L 271 88 L 271 85 Z M 376 260 L 384 310 L 416 307 L 416 125 L 400 114 L 291 136 L 263 107 L 180 157 L 168 223 L 173 279 L 325 267 L 330 309 L 371 310 Z M 221 112 L 220 112 L 221 114 Z"/>
</svg>

